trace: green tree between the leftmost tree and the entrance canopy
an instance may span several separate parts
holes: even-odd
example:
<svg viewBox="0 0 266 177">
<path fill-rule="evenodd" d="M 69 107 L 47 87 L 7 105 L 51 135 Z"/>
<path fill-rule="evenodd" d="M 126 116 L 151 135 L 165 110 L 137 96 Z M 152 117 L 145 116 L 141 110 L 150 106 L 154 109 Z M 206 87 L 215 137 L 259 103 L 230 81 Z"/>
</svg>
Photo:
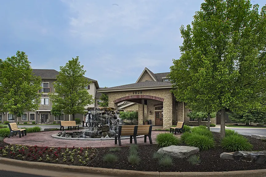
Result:
<svg viewBox="0 0 266 177">
<path fill-rule="evenodd" d="M 94 102 L 92 95 L 85 89 L 91 81 L 84 77 L 86 71 L 83 67 L 78 56 L 69 60 L 65 66 L 60 66 L 59 75 L 53 83 L 56 93 L 49 94 L 57 109 L 64 114 L 71 114 L 72 120 L 75 120 L 75 114 L 83 114 L 84 107 Z"/>
</svg>

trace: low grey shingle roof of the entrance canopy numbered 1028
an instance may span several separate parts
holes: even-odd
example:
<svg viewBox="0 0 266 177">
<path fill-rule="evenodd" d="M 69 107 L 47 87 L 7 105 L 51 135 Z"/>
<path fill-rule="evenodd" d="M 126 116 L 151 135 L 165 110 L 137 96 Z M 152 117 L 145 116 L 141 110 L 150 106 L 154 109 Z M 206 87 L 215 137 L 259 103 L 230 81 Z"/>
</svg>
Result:
<svg viewBox="0 0 266 177">
<path fill-rule="evenodd" d="M 101 90 L 110 90 L 110 89 L 126 89 L 126 88 L 135 88 L 135 87 L 160 87 L 160 86 L 171 86 L 170 82 L 158 82 L 158 81 L 145 81 L 139 83 L 131 83 L 127 85 L 121 85 L 116 87 L 109 87 Z"/>
</svg>

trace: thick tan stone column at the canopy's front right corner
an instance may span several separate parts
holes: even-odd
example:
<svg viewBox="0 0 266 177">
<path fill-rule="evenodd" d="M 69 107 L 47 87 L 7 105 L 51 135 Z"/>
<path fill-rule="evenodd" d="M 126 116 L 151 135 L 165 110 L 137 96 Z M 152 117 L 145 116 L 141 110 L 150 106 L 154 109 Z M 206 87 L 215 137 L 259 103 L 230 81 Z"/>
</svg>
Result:
<svg viewBox="0 0 266 177">
<path fill-rule="evenodd" d="M 163 129 L 169 129 L 173 119 L 173 100 L 170 97 L 164 98 L 163 101 Z"/>
</svg>

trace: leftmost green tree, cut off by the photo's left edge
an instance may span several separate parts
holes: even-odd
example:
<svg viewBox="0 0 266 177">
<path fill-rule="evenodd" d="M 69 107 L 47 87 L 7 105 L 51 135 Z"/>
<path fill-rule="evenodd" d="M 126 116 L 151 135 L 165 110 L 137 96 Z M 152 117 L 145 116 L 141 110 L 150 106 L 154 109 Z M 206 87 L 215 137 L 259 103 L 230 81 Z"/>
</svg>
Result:
<svg viewBox="0 0 266 177">
<path fill-rule="evenodd" d="M 41 78 L 32 73 L 25 52 L 18 51 L 16 56 L 0 59 L 0 110 L 12 113 L 16 123 L 24 110 L 38 110 L 41 82 Z"/>
</svg>

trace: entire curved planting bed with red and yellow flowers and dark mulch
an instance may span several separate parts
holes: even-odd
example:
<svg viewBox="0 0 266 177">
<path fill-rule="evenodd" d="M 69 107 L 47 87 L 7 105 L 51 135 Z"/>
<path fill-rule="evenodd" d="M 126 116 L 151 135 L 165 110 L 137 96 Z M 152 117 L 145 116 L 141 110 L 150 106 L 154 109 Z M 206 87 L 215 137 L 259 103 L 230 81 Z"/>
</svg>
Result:
<svg viewBox="0 0 266 177">
<path fill-rule="evenodd" d="M 0 157 L 17 160 L 27 160 L 36 162 L 68 164 L 78 166 L 115 168 L 137 171 L 238 171 L 266 169 L 265 165 L 256 165 L 245 161 L 234 161 L 220 159 L 222 152 L 228 152 L 220 146 L 220 133 L 213 132 L 216 141 L 215 148 L 208 151 L 200 151 L 199 163 L 189 162 L 189 157 L 183 160 L 171 159 L 172 165 L 163 166 L 162 160 L 153 158 L 159 147 L 156 144 L 147 144 L 137 148 L 116 147 L 116 148 L 47 148 L 47 147 L 26 147 L 15 146 L 0 142 Z M 253 150 L 265 150 L 266 143 L 245 136 L 253 145 Z M 182 144 L 184 145 L 184 144 Z M 132 149 L 135 151 L 133 152 Z M 133 153 L 133 155 L 132 155 Z M 114 155 L 111 156 L 110 154 Z M 129 158 L 131 156 L 131 158 Z M 134 157 L 135 156 L 135 157 Z M 139 164 L 132 164 L 139 159 Z M 135 159 L 134 159 L 135 158 Z M 114 161 L 112 161 L 114 160 Z M 129 162 L 130 160 L 130 162 Z M 169 159 L 164 159 L 169 164 Z"/>
</svg>

